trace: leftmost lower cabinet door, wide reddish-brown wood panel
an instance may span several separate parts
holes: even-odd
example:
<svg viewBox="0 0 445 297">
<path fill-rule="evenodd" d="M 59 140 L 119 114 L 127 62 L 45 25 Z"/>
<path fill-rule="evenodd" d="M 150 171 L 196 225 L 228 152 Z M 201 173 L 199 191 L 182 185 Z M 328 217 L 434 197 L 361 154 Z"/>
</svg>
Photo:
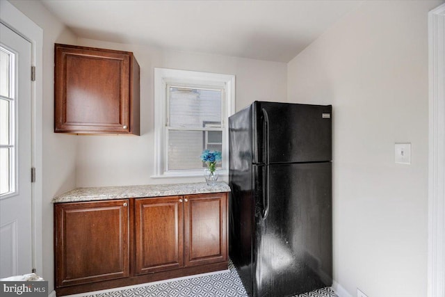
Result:
<svg viewBox="0 0 445 297">
<path fill-rule="evenodd" d="M 55 205 L 56 286 L 129 276 L 129 200 Z"/>
</svg>

